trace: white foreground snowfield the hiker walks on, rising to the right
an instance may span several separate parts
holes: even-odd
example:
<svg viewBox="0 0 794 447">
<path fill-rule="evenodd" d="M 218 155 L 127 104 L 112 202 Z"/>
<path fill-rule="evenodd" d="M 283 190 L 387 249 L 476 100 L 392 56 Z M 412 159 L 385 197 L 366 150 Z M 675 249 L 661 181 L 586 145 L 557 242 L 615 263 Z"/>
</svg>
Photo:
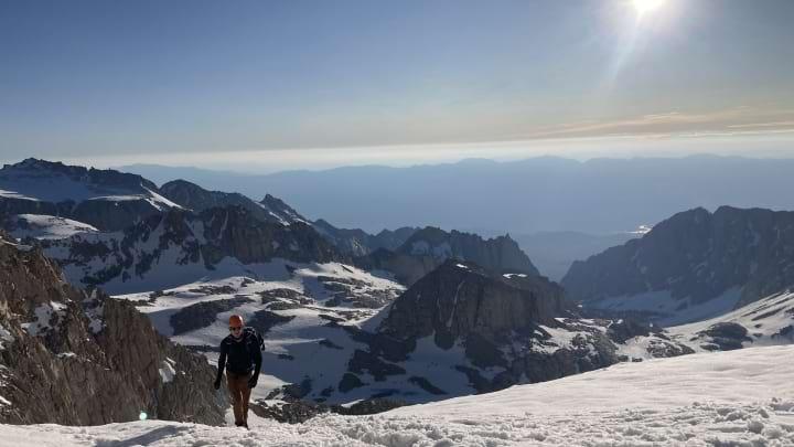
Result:
<svg viewBox="0 0 794 447">
<path fill-rule="evenodd" d="M 0 446 L 794 446 L 794 347 L 699 353 L 373 416 L 251 430 L 144 421 L 0 426 Z"/>
</svg>

